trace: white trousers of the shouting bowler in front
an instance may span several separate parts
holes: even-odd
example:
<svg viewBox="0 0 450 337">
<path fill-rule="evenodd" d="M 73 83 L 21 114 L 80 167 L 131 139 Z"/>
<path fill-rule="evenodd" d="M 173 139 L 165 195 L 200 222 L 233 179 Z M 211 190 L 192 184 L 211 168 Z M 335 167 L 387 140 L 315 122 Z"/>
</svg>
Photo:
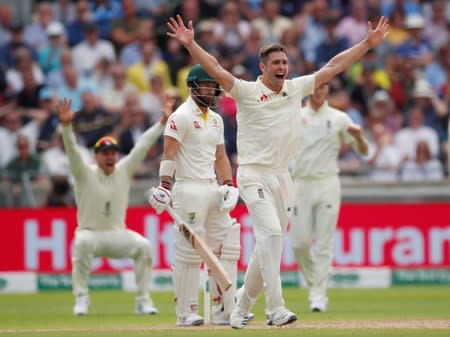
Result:
<svg viewBox="0 0 450 337">
<path fill-rule="evenodd" d="M 255 248 L 244 278 L 239 306 L 249 311 L 259 294 L 265 292 L 265 311 L 270 315 L 284 308 L 280 263 L 283 235 L 291 212 L 292 180 L 287 170 L 241 166 L 237 174 L 241 198 L 252 219 Z"/>
</svg>

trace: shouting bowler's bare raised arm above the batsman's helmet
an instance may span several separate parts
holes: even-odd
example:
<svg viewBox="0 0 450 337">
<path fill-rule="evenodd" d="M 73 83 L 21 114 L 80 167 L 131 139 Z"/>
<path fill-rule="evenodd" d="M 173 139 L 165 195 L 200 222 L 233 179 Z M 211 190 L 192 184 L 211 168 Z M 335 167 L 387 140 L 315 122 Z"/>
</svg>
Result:
<svg viewBox="0 0 450 337">
<path fill-rule="evenodd" d="M 180 42 L 191 54 L 191 56 L 202 66 L 206 72 L 213 77 L 225 91 L 233 88 L 235 77 L 225 70 L 217 61 L 217 59 L 206 52 L 194 40 L 194 27 L 192 21 L 189 20 L 188 26 L 184 25 L 180 15 L 170 18 L 167 26 L 171 30 L 167 35 Z"/>
</svg>

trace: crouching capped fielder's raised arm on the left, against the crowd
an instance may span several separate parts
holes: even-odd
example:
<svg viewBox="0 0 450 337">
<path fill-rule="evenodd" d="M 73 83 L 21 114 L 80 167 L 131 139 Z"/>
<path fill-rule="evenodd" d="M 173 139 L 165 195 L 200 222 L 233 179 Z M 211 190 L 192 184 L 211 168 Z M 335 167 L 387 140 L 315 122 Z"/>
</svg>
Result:
<svg viewBox="0 0 450 337">
<path fill-rule="evenodd" d="M 69 158 L 70 169 L 74 177 L 80 176 L 85 167 L 85 163 L 77 148 L 75 134 L 72 129 L 72 121 L 75 118 L 75 111 L 72 111 L 72 100 L 63 98 L 57 108 L 59 122 L 62 125 L 62 136 L 64 142 L 64 150 Z"/>
</svg>

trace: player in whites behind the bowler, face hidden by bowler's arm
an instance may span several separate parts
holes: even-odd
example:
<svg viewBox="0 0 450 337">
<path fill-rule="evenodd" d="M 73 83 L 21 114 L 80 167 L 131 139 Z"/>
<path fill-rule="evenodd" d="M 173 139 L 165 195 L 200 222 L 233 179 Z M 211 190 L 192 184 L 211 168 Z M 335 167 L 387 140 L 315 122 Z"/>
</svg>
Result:
<svg viewBox="0 0 450 337">
<path fill-rule="evenodd" d="M 326 311 L 333 238 L 341 205 L 337 158 L 341 142 L 366 156 L 368 142 L 350 117 L 328 105 L 328 84 L 301 109 L 300 145 L 292 171 L 295 187 L 291 242 L 309 287 L 310 309 Z M 311 250 L 315 240 L 314 252 Z"/>
</svg>

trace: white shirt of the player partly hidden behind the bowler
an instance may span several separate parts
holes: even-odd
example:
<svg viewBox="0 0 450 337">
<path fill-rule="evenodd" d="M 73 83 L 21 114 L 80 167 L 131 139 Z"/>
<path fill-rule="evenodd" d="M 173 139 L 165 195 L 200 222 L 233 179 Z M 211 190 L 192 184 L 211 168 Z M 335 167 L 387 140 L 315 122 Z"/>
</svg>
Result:
<svg viewBox="0 0 450 337">
<path fill-rule="evenodd" d="M 341 139 L 357 150 L 348 132 L 351 118 L 325 102 L 316 111 L 308 102 L 301 109 L 300 144 L 292 172 L 294 178 L 325 178 L 338 174 Z"/>
</svg>

